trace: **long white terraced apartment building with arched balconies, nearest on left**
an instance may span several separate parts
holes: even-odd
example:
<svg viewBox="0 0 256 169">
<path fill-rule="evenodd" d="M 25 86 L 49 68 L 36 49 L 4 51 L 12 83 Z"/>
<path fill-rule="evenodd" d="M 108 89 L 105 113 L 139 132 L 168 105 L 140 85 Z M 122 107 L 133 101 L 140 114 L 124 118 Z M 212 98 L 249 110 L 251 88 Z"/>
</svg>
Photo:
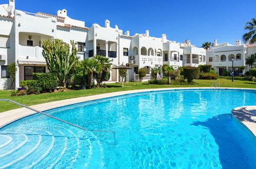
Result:
<svg viewBox="0 0 256 169">
<path fill-rule="evenodd" d="M 111 58 L 112 67 L 129 63 L 130 81 L 139 80 L 140 68 L 147 69 L 144 79 L 148 80 L 151 68 L 163 64 L 175 69 L 206 64 L 206 51 L 191 45 L 189 40 L 176 43 L 167 40 L 165 34 L 151 37 L 149 31 L 130 36 L 129 31 L 123 34 L 117 26 L 111 28 L 109 20 L 105 20 L 104 27 L 93 24 L 88 28 L 85 22 L 68 17 L 65 9 L 57 11 L 57 15 L 29 13 L 15 9 L 15 0 L 10 0 L 9 4 L 0 5 L 0 25 L 0 89 L 10 88 L 7 66 L 12 62 L 17 67 L 16 88 L 21 80 L 32 79 L 32 73 L 48 72 L 42 41 L 54 38 L 67 44 L 77 41 L 81 60 L 99 54 Z M 109 81 L 119 81 L 118 74 L 118 70 L 112 69 Z"/>
</svg>

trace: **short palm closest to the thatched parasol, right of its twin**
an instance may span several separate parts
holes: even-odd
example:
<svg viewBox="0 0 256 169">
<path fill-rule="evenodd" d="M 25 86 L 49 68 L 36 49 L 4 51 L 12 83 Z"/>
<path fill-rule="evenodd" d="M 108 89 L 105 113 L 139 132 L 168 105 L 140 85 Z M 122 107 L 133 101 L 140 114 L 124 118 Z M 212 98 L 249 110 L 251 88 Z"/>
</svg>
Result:
<svg viewBox="0 0 256 169">
<path fill-rule="evenodd" d="M 95 55 L 94 59 L 99 61 L 99 63 L 100 63 L 99 71 L 95 72 L 95 74 L 96 74 L 96 81 L 97 81 L 97 88 L 99 88 L 101 83 L 102 83 L 102 73 L 103 73 L 104 70 L 111 68 L 112 64 L 110 62 L 113 59 L 110 60 L 109 58 L 103 57 L 101 55 Z"/>
</svg>

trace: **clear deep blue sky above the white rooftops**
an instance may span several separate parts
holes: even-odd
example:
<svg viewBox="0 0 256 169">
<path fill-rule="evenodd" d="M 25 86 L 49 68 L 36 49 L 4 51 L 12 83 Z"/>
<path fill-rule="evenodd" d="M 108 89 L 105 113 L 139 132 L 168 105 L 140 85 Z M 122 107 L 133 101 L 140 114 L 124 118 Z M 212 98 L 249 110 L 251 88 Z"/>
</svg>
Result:
<svg viewBox="0 0 256 169">
<path fill-rule="evenodd" d="M 201 47 L 205 41 L 234 44 L 242 39 L 243 27 L 252 17 L 256 17 L 256 1 L 60 1 L 60 0 L 15 0 L 16 9 L 27 12 L 56 14 L 66 9 L 69 17 L 83 20 L 87 27 L 93 23 L 104 26 L 117 25 L 130 34 L 145 33 L 184 42 L 186 39 Z M 9 1 L 2 0 L 7 4 Z M 2 4 L 2 3 L 1 3 Z"/>
</svg>

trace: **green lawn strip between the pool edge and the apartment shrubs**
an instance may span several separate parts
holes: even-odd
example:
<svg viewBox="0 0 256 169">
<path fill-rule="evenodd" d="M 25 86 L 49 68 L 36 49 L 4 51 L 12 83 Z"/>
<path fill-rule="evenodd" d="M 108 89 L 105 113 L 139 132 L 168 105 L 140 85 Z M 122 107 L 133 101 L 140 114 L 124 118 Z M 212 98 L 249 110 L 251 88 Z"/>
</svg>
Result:
<svg viewBox="0 0 256 169">
<path fill-rule="evenodd" d="M 186 85 L 186 86 L 148 85 L 147 82 L 129 82 L 129 83 L 124 83 L 124 88 L 122 88 L 122 83 L 112 83 L 108 85 L 109 88 L 105 88 L 105 89 L 77 90 L 77 91 L 46 93 L 46 94 L 40 94 L 40 95 L 26 95 L 26 96 L 17 96 L 17 97 L 8 96 L 10 91 L 0 90 L 0 98 L 11 99 L 25 105 L 34 105 L 34 104 L 40 104 L 40 103 L 75 98 L 75 97 L 83 97 L 83 96 L 90 96 L 90 95 L 96 95 L 96 94 L 136 90 L 136 89 L 211 87 L 211 83 L 212 83 L 212 80 L 198 79 L 194 81 L 196 82 L 195 85 Z M 235 77 L 234 82 L 231 81 L 231 77 L 219 77 L 219 79 L 216 81 L 220 83 L 221 87 L 256 89 L 256 82 L 247 81 L 243 77 Z M 134 84 L 139 84 L 139 85 L 134 85 Z M 0 102 L 0 112 L 17 109 L 17 108 L 20 108 L 20 106 L 14 103 L 6 102 L 6 101 Z"/>
</svg>

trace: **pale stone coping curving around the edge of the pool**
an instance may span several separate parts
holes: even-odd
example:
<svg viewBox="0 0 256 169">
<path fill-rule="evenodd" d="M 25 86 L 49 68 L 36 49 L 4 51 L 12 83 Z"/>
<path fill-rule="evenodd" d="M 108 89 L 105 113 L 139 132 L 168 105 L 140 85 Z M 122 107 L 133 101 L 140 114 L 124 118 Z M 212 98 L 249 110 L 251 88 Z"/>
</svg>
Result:
<svg viewBox="0 0 256 169">
<path fill-rule="evenodd" d="M 139 90 L 128 90 L 128 91 L 121 91 L 121 92 L 112 92 L 112 93 L 104 93 L 104 94 L 98 94 L 98 95 L 91 95 L 91 96 L 84 96 L 84 97 L 77 97 L 77 98 L 71 98 L 71 99 L 64 99 L 64 100 L 58 100 L 58 101 L 52 101 L 42 104 L 35 104 L 31 105 L 30 107 L 33 109 L 36 109 L 38 111 L 46 111 L 51 109 L 56 109 L 59 107 L 64 107 L 66 105 L 76 104 L 76 103 L 82 103 L 87 101 L 93 101 L 93 100 L 99 100 L 104 98 L 110 98 L 115 96 L 122 96 L 127 94 L 133 94 L 133 93 L 141 93 L 141 92 L 152 92 L 152 91 L 168 91 L 168 90 L 189 90 L 189 89 L 213 89 L 211 87 L 192 87 L 192 88 L 156 88 L 156 89 L 139 89 Z M 251 88 L 221 88 L 222 90 L 225 89 L 233 89 L 233 90 L 256 90 Z M 253 107 L 253 106 L 245 106 L 245 107 Z M 245 108 L 245 107 L 239 107 L 239 108 Z M 239 108 L 234 108 L 233 110 L 236 111 Z M 256 105 L 255 105 L 256 108 Z M 243 125 L 246 126 L 246 128 L 256 137 L 256 123 L 244 121 L 243 113 L 240 113 L 240 116 L 234 115 L 233 110 L 231 110 L 231 114 L 235 119 L 237 119 L 239 122 L 241 122 Z M 37 112 L 34 112 L 32 110 L 28 110 L 26 108 L 19 108 L 19 109 L 13 109 L 6 112 L 0 113 L 0 129 L 2 129 L 7 124 L 10 124 L 14 121 L 17 121 L 19 119 L 31 116 L 37 114 Z M 243 121 L 241 121 L 243 120 Z"/>
</svg>

